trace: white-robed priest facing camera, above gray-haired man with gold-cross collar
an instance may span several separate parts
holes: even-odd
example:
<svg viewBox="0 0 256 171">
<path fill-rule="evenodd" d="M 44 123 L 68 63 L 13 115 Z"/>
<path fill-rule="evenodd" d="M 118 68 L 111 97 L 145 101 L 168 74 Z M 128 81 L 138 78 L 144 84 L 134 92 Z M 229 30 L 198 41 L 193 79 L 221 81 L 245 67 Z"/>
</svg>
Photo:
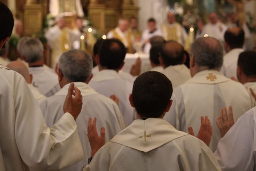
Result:
<svg viewBox="0 0 256 171">
<path fill-rule="evenodd" d="M 219 21 L 215 12 L 209 14 L 210 23 L 206 24 L 202 30 L 198 30 L 196 38 L 210 36 L 224 42 L 224 33 L 228 26 Z"/>
</svg>

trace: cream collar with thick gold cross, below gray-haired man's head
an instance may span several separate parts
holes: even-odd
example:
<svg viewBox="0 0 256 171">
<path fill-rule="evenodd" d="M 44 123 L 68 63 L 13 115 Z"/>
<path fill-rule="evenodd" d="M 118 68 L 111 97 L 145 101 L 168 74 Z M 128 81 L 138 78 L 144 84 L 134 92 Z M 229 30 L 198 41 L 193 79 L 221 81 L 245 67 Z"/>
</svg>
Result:
<svg viewBox="0 0 256 171">
<path fill-rule="evenodd" d="M 212 75 L 214 78 L 210 80 L 209 76 Z M 209 78 L 209 79 L 208 79 Z M 221 82 L 230 81 L 229 78 L 226 78 L 223 74 L 217 70 L 203 70 L 196 73 L 192 78 L 190 78 L 188 83 L 201 83 L 201 84 L 218 84 Z"/>
</svg>

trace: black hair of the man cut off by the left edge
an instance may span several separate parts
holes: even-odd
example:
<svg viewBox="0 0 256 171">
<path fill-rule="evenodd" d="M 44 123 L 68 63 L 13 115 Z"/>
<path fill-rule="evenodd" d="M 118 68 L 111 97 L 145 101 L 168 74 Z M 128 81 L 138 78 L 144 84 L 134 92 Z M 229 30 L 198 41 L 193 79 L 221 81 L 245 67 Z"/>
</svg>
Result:
<svg viewBox="0 0 256 171">
<path fill-rule="evenodd" d="M 0 41 L 10 37 L 14 26 L 14 18 L 10 9 L 0 2 Z"/>
</svg>

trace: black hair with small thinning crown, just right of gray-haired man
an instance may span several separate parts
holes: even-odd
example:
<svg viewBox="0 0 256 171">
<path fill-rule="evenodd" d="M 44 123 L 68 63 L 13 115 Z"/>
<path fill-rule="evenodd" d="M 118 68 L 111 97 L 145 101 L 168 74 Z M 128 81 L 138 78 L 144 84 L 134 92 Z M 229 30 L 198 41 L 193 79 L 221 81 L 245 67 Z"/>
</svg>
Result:
<svg viewBox="0 0 256 171">
<path fill-rule="evenodd" d="M 100 65 L 109 70 L 117 70 L 124 62 L 126 48 L 118 39 L 106 39 L 100 46 Z"/>
</svg>

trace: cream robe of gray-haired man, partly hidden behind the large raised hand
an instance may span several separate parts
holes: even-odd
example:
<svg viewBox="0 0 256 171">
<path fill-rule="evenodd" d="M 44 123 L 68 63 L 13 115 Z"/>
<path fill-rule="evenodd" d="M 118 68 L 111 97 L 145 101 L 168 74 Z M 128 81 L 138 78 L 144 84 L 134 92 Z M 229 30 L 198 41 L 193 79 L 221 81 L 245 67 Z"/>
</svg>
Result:
<svg viewBox="0 0 256 171">
<path fill-rule="evenodd" d="M 55 95 L 48 97 L 40 104 L 46 125 L 53 125 L 63 115 L 63 103 L 66 94 L 68 93 L 69 85 L 70 84 L 66 84 Z M 64 169 L 65 171 L 82 170 L 83 166 L 86 165 L 87 160 L 90 157 L 91 148 L 87 137 L 87 123 L 89 117 L 92 117 L 92 119 L 94 117 L 97 118 L 98 131 L 100 131 L 101 127 L 105 127 L 106 142 L 125 128 L 123 116 L 120 113 L 118 106 L 112 99 L 107 98 L 104 95 L 100 95 L 86 83 L 75 82 L 75 86 L 80 89 L 83 96 L 82 111 L 76 119 L 76 124 L 84 151 L 84 157 L 82 161 L 68 167 L 67 169 Z"/>
</svg>

